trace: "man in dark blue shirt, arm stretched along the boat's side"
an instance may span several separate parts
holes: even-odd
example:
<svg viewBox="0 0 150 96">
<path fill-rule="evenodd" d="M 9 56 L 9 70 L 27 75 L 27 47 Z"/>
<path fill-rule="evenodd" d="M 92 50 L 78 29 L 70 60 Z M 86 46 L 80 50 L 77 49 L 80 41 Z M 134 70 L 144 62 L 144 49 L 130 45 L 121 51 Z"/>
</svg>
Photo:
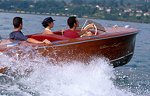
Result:
<svg viewBox="0 0 150 96">
<path fill-rule="evenodd" d="M 26 37 L 22 32 L 22 27 L 23 27 L 23 21 L 21 17 L 14 17 L 13 19 L 13 25 L 14 25 L 14 30 L 9 34 L 9 38 L 13 40 L 20 40 L 20 41 L 28 41 L 30 43 L 46 43 L 46 44 L 51 44 L 51 42 L 47 39 L 43 41 L 38 41 L 33 38 L 28 38 Z"/>
</svg>

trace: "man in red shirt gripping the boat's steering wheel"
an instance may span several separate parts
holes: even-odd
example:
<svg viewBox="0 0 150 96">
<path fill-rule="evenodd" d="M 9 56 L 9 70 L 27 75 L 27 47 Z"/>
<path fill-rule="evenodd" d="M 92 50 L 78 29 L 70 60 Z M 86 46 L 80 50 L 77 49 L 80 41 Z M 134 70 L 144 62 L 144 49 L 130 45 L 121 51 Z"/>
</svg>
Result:
<svg viewBox="0 0 150 96">
<path fill-rule="evenodd" d="M 86 28 L 83 30 L 77 30 L 77 27 L 79 26 L 79 22 L 75 16 L 71 16 L 67 20 L 67 24 L 70 29 L 64 31 L 64 36 L 69 38 L 78 38 L 81 36 L 92 36 L 91 32 L 88 32 L 89 29 L 94 27 L 94 24 L 89 24 Z"/>
</svg>

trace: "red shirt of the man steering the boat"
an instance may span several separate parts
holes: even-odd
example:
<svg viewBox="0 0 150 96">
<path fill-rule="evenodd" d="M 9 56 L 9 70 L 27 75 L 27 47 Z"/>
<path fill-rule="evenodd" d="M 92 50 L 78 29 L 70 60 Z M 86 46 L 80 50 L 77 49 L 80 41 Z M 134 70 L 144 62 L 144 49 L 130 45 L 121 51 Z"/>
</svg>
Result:
<svg viewBox="0 0 150 96">
<path fill-rule="evenodd" d="M 78 32 L 80 32 L 80 30 L 75 30 L 75 31 L 72 31 L 72 30 L 65 30 L 64 31 L 64 36 L 65 37 L 69 37 L 69 38 L 79 38 L 80 35 L 78 34 Z"/>
</svg>

